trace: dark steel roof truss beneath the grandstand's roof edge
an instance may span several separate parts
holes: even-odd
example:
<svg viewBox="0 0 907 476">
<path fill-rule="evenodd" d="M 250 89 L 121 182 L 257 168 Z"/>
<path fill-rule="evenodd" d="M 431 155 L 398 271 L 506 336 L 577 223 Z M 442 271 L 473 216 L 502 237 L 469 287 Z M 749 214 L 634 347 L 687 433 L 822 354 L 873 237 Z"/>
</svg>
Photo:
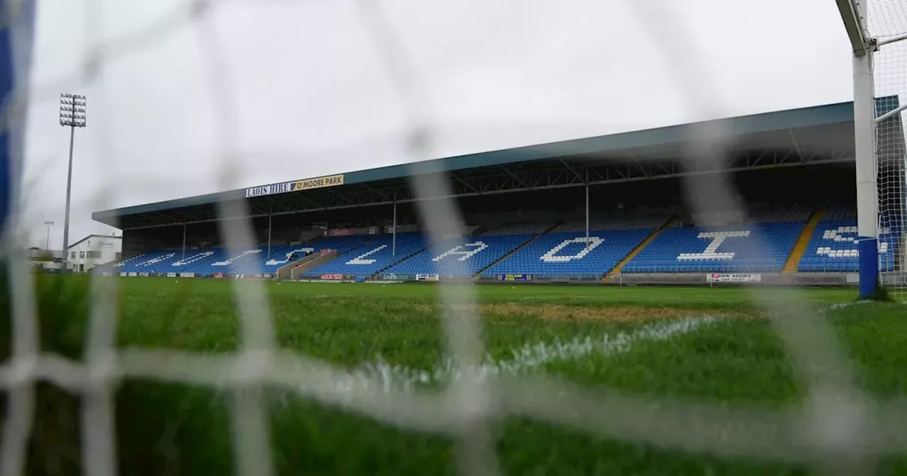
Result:
<svg viewBox="0 0 907 476">
<path fill-rule="evenodd" d="M 762 170 L 782 167 L 811 167 L 814 165 L 853 161 L 852 152 L 796 150 L 746 151 L 733 160 L 714 164 L 706 160 L 629 160 L 615 163 L 607 158 L 559 158 L 534 163 L 514 163 L 493 167 L 447 172 L 451 194 L 424 197 L 442 199 L 494 195 L 542 189 L 564 189 L 600 186 L 609 183 L 658 180 L 695 175 Z M 306 213 L 312 211 L 348 209 L 390 205 L 395 201 L 414 201 L 408 180 L 384 180 L 367 184 L 351 184 L 334 189 L 314 189 L 305 192 L 268 195 L 248 199 L 246 215 L 219 217 L 219 207 L 200 205 L 165 212 L 148 212 L 122 217 L 119 228 L 151 228 L 200 223 L 218 219 L 239 219 Z M 114 225 L 116 226 L 116 225 Z"/>
</svg>

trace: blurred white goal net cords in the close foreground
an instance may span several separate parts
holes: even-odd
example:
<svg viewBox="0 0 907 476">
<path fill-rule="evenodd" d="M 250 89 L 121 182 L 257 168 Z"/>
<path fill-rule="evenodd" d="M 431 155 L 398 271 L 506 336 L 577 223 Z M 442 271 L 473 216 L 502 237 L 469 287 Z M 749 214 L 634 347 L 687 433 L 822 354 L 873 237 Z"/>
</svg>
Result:
<svg viewBox="0 0 907 476">
<path fill-rule="evenodd" d="M 269 2 L 267 7 L 272 3 L 289 2 Z M 380 62 L 404 104 L 410 131 L 405 147 L 407 159 L 422 160 L 430 155 L 437 133 L 428 88 L 410 63 L 402 40 L 395 34 L 395 20 L 383 5 L 359 0 L 354 7 L 360 15 L 366 40 L 379 53 Z M 514 11 L 528 12 L 537 5 L 514 3 L 512 6 Z M 723 115 L 722 104 L 715 99 L 717 88 L 710 81 L 707 66 L 697 56 L 696 42 L 691 41 L 684 24 L 673 21 L 676 5 L 653 0 L 626 2 L 624 6 L 642 25 L 640 35 L 654 39 L 666 73 L 672 75 L 684 92 L 684 106 L 697 112 L 697 116 Z M 220 48 L 224 39 L 219 37 L 212 20 L 219 8 L 227 6 L 206 1 L 180 3 L 172 15 L 151 28 L 100 43 L 93 35 L 102 31 L 99 24 L 102 15 L 89 11 L 86 37 L 91 53 L 79 58 L 72 76 L 39 87 L 31 101 L 55 102 L 60 91 L 76 85 L 90 86 L 95 92 L 89 94 L 90 127 L 112 128 L 117 119 L 108 113 L 111 105 L 104 99 L 102 65 L 156 44 L 166 35 L 190 25 L 204 52 L 200 57 L 205 66 L 203 81 L 213 98 L 215 134 L 222 152 L 219 189 L 234 189 L 239 173 L 237 160 L 241 159 L 236 123 L 239 113 L 231 101 L 236 85 L 231 83 L 229 68 L 224 63 L 225 53 Z M 262 87 L 267 86 L 262 84 Z M 726 160 L 727 133 L 717 130 L 714 124 L 690 130 L 686 159 L 703 163 Z M 433 171 L 426 167 L 416 164 L 412 170 L 419 174 Z M 110 183 L 109 189 L 98 190 L 93 209 L 105 209 L 117 187 L 125 186 L 118 180 Z M 449 184 L 444 174 L 438 173 L 414 180 L 412 187 L 417 196 L 445 196 Z M 724 204 L 723 209 L 743 213 L 727 176 L 693 176 L 688 179 L 687 189 L 695 209 L 715 209 L 717 204 Z M 219 212 L 221 216 L 241 216 L 247 212 L 245 206 L 242 202 L 225 202 Z M 453 200 L 420 201 L 419 212 L 434 245 L 463 227 Z M 255 244 L 249 220 L 223 220 L 220 226 L 231 255 Z M 765 247 L 759 237 L 753 238 L 753 247 Z M 15 275 L 27 274 L 20 254 L 15 255 L 13 264 Z M 803 462 L 821 471 L 847 475 L 865 474 L 876 459 L 907 448 L 907 424 L 903 423 L 907 408 L 900 402 L 873 401 L 854 386 L 851 364 L 835 343 L 831 329 L 818 310 L 805 304 L 805 299 L 796 293 L 778 297 L 756 288 L 752 291 L 753 298 L 765 307 L 775 331 L 788 345 L 799 377 L 809 390 L 809 397 L 802 405 L 766 410 L 742 404 L 717 407 L 669 398 L 629 396 L 581 388 L 537 375 L 480 378 L 480 367 L 476 365 L 483 352 L 479 316 L 473 306 L 463 306 L 475 302 L 475 291 L 456 284 L 440 286 L 446 349 L 461 378 L 453 380 L 442 393 L 403 392 L 385 386 L 374 377 L 350 374 L 306 355 L 276 349 L 265 288 L 256 281 L 236 280 L 234 284 L 242 332 L 236 355 L 115 350 L 117 282 L 117 277 L 93 278 L 89 351 L 83 362 L 75 362 L 60 355 L 39 353 L 32 282 L 12 281 L 15 347 L 12 359 L 0 368 L 0 386 L 10 397 L 0 451 L 0 476 L 23 472 L 34 417 L 34 385 L 39 380 L 84 397 L 83 420 L 90 422 L 83 425 L 84 472 L 114 474 L 112 385 L 124 377 L 226 388 L 234 392 L 234 449 L 236 468 L 242 476 L 272 473 L 268 420 L 261 396 L 264 384 L 284 386 L 307 398 L 335 404 L 380 422 L 451 435 L 460 443 L 456 454 L 464 474 L 500 472 L 489 425 L 506 415 L 523 415 L 658 448 Z"/>
</svg>

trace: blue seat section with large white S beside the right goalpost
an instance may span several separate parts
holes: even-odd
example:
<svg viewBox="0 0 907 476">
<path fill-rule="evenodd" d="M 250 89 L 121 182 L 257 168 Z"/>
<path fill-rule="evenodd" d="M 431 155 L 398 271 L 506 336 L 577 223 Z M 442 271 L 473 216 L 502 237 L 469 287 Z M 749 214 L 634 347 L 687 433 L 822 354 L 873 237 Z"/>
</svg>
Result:
<svg viewBox="0 0 907 476">
<path fill-rule="evenodd" d="M 860 269 L 860 255 L 855 239 L 856 219 L 826 219 L 815 227 L 813 237 L 798 271 L 803 272 L 855 272 Z M 892 271 L 898 248 L 899 234 L 891 228 L 882 228 L 879 234 L 879 270 Z"/>
</svg>

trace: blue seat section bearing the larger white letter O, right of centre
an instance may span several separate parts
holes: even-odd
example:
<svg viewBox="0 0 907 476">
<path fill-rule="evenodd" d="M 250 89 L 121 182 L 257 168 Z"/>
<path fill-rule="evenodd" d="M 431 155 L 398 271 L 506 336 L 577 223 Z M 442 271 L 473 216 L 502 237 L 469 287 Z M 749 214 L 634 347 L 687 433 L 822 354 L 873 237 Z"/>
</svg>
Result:
<svg viewBox="0 0 907 476">
<path fill-rule="evenodd" d="M 524 273 L 536 277 L 602 277 L 653 231 L 654 228 L 593 231 L 588 244 L 585 234 L 579 232 L 541 235 L 482 276 Z"/>
</svg>

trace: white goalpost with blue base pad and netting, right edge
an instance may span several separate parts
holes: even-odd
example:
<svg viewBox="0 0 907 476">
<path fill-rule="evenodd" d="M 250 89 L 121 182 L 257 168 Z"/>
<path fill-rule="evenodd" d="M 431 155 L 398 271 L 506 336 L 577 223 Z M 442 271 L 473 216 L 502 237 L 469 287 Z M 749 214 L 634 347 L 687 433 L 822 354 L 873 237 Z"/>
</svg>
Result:
<svg viewBox="0 0 907 476">
<path fill-rule="evenodd" d="M 907 300 L 907 5 L 890 0 L 836 0 L 853 46 L 860 296 L 885 287 Z"/>
</svg>

